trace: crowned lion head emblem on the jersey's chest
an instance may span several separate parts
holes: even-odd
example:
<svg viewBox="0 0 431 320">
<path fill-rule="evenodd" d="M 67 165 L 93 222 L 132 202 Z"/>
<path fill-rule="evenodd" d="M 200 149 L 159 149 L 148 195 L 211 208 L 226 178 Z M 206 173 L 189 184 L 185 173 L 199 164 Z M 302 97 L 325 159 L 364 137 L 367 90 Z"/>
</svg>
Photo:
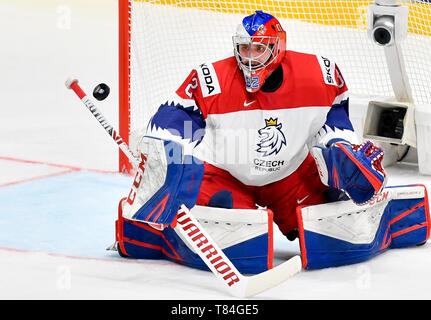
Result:
<svg viewBox="0 0 431 320">
<path fill-rule="evenodd" d="M 266 126 L 258 130 L 260 142 L 256 151 L 263 153 L 263 156 L 277 154 L 283 145 L 286 145 L 286 138 L 281 131 L 281 123 L 277 124 L 277 118 L 265 119 Z"/>
</svg>

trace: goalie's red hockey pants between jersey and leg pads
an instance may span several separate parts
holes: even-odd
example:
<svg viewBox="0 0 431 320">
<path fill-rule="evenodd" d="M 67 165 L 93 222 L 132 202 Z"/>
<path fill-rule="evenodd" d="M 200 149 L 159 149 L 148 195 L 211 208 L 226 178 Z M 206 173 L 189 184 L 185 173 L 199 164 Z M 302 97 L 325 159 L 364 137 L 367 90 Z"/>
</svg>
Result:
<svg viewBox="0 0 431 320">
<path fill-rule="evenodd" d="M 227 171 L 205 163 L 205 173 L 196 204 L 208 206 L 219 191 L 232 193 L 233 209 L 267 207 L 274 213 L 274 222 L 283 234 L 298 227 L 296 207 L 327 202 L 319 173 L 311 155 L 290 176 L 261 187 L 247 186 Z"/>
</svg>

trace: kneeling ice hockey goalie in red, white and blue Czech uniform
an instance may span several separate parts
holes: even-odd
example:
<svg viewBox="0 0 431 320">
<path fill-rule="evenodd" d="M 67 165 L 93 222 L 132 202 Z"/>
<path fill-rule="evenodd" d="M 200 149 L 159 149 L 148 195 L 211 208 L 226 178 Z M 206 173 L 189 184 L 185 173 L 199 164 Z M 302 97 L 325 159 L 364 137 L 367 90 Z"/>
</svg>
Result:
<svg viewBox="0 0 431 320">
<path fill-rule="evenodd" d="M 356 136 L 333 60 L 286 50 L 286 32 L 262 11 L 242 20 L 233 49 L 193 69 L 140 138 L 116 225 L 122 255 L 205 268 L 172 228 L 181 204 L 248 273 L 272 266 L 273 222 L 300 237 L 307 268 L 428 239 L 425 188 L 416 200 L 382 194 L 383 152 Z M 377 202 L 387 209 L 376 213 Z"/>
</svg>

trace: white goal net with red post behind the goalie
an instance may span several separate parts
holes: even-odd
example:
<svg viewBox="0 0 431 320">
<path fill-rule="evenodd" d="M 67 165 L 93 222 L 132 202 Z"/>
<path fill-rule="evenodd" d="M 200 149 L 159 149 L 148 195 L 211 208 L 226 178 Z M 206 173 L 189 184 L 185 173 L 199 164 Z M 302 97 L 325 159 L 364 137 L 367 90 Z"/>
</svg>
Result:
<svg viewBox="0 0 431 320">
<path fill-rule="evenodd" d="M 118 0 L 120 135 L 136 149 L 150 117 L 203 62 L 233 55 L 236 26 L 254 10 L 278 18 L 287 49 L 320 54 L 341 69 L 351 96 L 394 96 L 383 48 L 367 36 L 366 0 Z M 402 42 L 413 99 L 431 103 L 431 2 L 409 7 Z M 120 153 L 121 172 L 131 165 Z"/>
</svg>

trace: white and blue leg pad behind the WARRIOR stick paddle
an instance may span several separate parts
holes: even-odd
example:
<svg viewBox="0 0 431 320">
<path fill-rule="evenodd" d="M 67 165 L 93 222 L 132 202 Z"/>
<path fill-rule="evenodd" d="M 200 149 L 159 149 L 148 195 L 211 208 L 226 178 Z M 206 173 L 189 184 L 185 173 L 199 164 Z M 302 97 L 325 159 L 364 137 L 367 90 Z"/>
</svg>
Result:
<svg viewBox="0 0 431 320">
<path fill-rule="evenodd" d="M 116 221 L 116 242 L 122 254 L 137 259 L 166 259 L 201 270 L 209 270 L 202 259 L 172 227 L 156 230 L 146 223 L 122 215 Z M 195 206 L 193 215 L 241 273 L 260 273 L 272 268 L 273 237 L 270 210 L 229 210 Z M 182 223 L 181 218 L 177 223 Z M 199 232 L 190 228 L 199 237 Z M 205 239 L 202 239 L 204 241 Z M 208 255 L 216 257 L 214 249 Z"/>
</svg>

